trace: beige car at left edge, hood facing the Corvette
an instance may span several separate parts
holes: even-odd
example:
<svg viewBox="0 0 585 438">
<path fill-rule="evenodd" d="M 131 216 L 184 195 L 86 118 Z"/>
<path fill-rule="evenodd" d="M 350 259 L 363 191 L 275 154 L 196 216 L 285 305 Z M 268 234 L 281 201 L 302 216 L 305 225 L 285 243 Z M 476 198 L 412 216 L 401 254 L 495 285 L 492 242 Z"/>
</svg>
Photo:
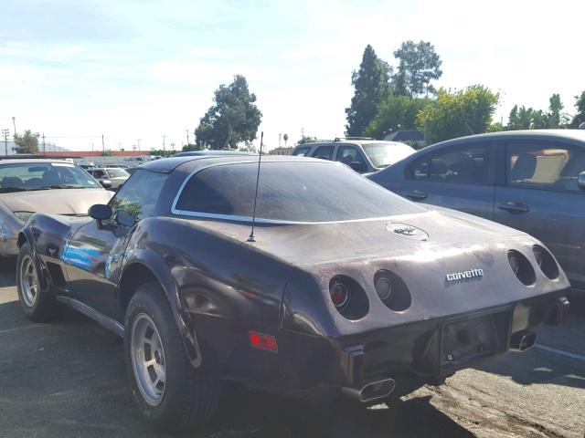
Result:
<svg viewBox="0 0 585 438">
<path fill-rule="evenodd" d="M 32 214 L 87 215 L 91 205 L 107 203 L 111 197 L 69 162 L 0 161 L 0 256 L 18 254 L 18 230 Z"/>
</svg>

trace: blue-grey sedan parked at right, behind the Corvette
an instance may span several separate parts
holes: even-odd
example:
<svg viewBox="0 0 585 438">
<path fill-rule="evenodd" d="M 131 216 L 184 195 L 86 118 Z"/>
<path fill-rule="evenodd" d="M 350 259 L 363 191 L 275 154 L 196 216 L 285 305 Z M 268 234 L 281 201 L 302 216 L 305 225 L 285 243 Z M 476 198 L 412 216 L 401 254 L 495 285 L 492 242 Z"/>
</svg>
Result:
<svg viewBox="0 0 585 438">
<path fill-rule="evenodd" d="M 585 289 L 585 131 L 473 135 L 425 148 L 369 178 L 412 201 L 506 224 L 548 245 Z"/>
</svg>

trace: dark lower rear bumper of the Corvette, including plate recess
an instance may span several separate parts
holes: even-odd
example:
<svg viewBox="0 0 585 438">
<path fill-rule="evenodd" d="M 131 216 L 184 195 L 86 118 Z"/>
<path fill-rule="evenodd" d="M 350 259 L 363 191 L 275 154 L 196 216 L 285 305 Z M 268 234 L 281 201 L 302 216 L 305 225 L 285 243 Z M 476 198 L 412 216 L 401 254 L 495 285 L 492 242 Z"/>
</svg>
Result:
<svg viewBox="0 0 585 438">
<path fill-rule="evenodd" d="M 314 401 L 340 391 L 359 397 L 368 384 L 390 379 L 392 391 L 404 395 L 505 354 L 515 335 L 543 322 L 562 323 L 569 309 L 564 292 L 335 339 L 284 331 L 283 391 Z"/>
</svg>

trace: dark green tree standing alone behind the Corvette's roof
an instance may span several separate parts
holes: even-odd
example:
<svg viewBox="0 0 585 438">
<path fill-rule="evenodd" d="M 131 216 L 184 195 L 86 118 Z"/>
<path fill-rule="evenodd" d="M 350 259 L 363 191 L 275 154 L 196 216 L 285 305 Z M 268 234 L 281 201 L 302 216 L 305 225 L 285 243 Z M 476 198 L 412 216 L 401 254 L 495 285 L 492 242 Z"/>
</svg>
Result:
<svg viewBox="0 0 585 438">
<path fill-rule="evenodd" d="M 237 75 L 229 86 L 220 85 L 214 102 L 195 130 L 197 145 L 213 150 L 235 149 L 239 142 L 256 139 L 262 113 L 246 78 Z"/>
</svg>

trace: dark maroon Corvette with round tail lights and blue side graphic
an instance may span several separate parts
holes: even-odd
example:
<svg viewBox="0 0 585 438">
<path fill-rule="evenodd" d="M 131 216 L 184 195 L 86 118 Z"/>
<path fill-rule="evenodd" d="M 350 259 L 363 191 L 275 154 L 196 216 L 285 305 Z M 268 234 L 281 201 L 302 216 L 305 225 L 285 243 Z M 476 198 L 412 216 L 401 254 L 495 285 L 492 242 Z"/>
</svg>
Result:
<svg viewBox="0 0 585 438">
<path fill-rule="evenodd" d="M 338 162 L 157 160 L 90 216 L 30 218 L 20 303 L 33 320 L 68 304 L 122 336 L 133 400 L 159 428 L 205 422 L 225 381 L 388 401 L 528 349 L 569 308 L 536 239 Z"/>
</svg>

